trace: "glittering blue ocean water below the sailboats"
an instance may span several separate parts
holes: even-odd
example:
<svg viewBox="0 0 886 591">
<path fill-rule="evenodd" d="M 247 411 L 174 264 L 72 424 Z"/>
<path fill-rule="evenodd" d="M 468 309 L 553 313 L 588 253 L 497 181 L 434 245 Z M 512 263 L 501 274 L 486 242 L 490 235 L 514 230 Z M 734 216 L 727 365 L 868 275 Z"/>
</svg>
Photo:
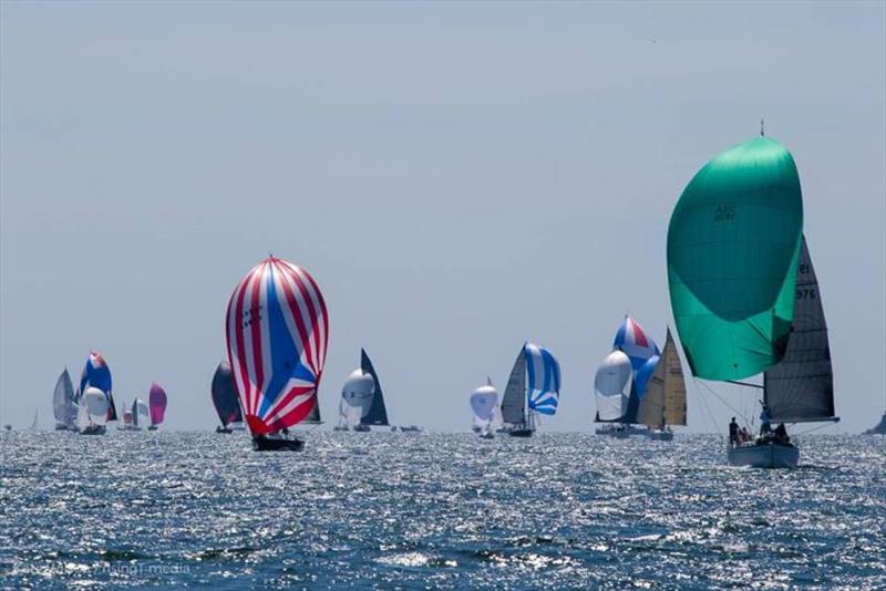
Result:
<svg viewBox="0 0 886 591">
<path fill-rule="evenodd" d="M 4 433 L 0 587 L 886 588 L 886 438 Z"/>
</svg>

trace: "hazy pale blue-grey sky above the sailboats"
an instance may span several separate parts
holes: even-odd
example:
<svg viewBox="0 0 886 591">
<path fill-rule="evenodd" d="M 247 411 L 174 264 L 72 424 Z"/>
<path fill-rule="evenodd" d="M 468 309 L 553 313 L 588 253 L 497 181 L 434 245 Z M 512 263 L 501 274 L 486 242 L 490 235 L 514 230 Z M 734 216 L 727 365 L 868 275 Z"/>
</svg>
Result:
<svg viewBox="0 0 886 591">
<path fill-rule="evenodd" d="M 857 433 L 886 411 L 886 3 L 4 0 L 0 423 L 50 428 L 97 350 L 117 404 L 156 381 L 167 428 L 212 428 L 228 298 L 272 252 L 329 307 L 327 421 L 364 346 L 394 424 L 467 429 L 528 340 L 563 369 L 542 428 L 588 432 L 624 315 L 673 325 L 680 193 L 761 118 L 803 187 L 824 433 Z M 688 432 L 750 412 L 689 388 Z"/>
</svg>

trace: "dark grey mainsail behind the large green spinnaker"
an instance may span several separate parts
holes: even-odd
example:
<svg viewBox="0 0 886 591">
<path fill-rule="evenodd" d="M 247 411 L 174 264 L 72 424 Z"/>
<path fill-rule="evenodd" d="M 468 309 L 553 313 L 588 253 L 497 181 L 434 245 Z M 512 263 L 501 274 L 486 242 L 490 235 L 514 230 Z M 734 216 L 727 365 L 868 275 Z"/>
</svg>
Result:
<svg viewBox="0 0 886 591">
<path fill-rule="evenodd" d="M 805 237 L 795 298 L 787 350 L 781 363 L 763 374 L 763 398 L 775 422 L 836 421 L 827 324 Z"/>
</svg>

